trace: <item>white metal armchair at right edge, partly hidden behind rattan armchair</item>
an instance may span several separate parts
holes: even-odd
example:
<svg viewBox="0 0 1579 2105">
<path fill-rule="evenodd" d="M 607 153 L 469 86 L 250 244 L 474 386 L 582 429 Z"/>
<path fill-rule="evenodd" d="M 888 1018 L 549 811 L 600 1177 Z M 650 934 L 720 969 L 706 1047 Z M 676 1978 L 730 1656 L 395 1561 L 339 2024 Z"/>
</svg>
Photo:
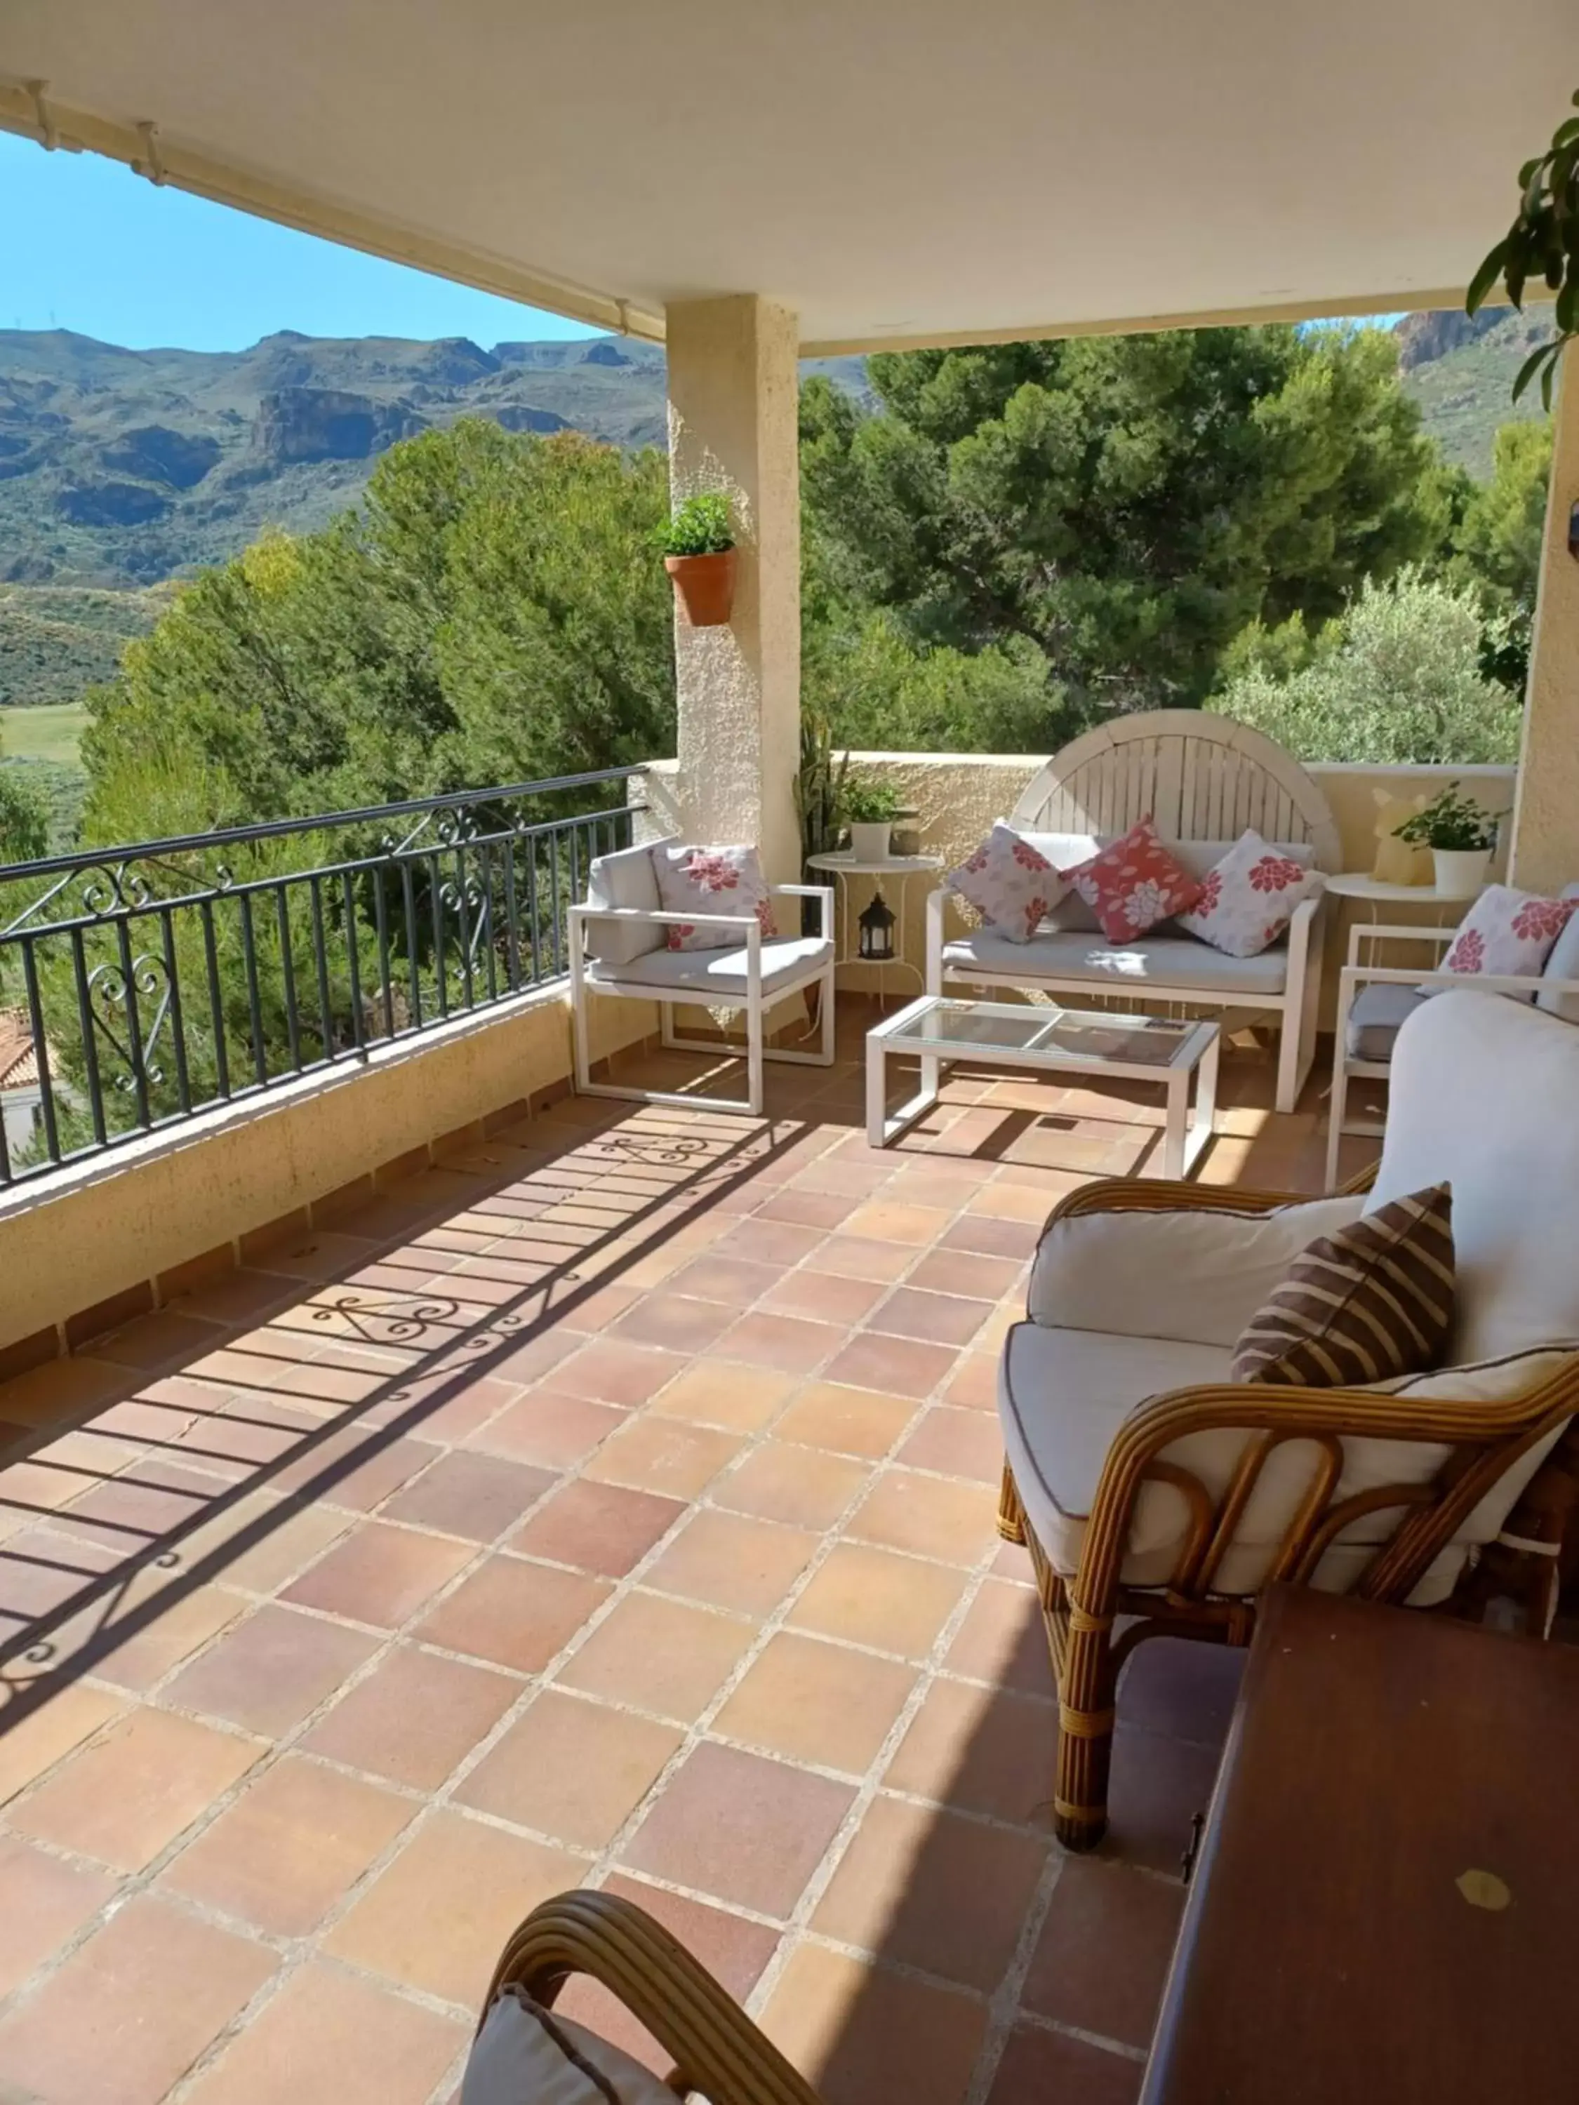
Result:
<svg viewBox="0 0 1579 2105">
<path fill-rule="evenodd" d="M 1579 884 L 1562 890 L 1579 899 Z M 1467 901 L 1465 901 L 1467 903 Z M 1436 989 L 1463 987 L 1463 975 L 1438 968 L 1421 970 L 1419 958 L 1406 962 L 1400 945 L 1419 951 L 1427 945 L 1438 954 L 1448 949 L 1457 928 L 1411 928 L 1404 924 L 1356 922 L 1350 928 L 1350 956 L 1339 973 L 1337 1029 L 1333 1034 L 1333 1101 L 1326 1116 L 1326 1181 L 1337 1183 L 1339 1149 L 1347 1137 L 1379 1139 L 1385 1126 L 1375 1118 L 1350 1118 L 1350 1082 L 1385 1082 L 1392 1076 L 1392 1048 L 1408 1017 Z M 1535 1002 L 1564 1023 L 1579 1023 L 1579 979 L 1562 975 L 1568 945 L 1554 949 L 1543 973 L 1478 973 L 1470 991 L 1514 996 Z"/>
</svg>

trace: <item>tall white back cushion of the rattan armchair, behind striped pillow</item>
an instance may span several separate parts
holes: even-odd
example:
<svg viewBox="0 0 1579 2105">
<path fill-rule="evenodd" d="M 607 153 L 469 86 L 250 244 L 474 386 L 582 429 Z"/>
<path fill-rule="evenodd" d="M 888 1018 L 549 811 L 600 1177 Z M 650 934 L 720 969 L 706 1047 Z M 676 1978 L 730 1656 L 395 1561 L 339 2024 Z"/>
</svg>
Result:
<svg viewBox="0 0 1579 2105">
<path fill-rule="evenodd" d="M 1453 989 L 1398 1031 L 1366 1208 L 1453 1187 L 1453 1360 L 1579 1337 L 1579 1031 Z"/>
</svg>

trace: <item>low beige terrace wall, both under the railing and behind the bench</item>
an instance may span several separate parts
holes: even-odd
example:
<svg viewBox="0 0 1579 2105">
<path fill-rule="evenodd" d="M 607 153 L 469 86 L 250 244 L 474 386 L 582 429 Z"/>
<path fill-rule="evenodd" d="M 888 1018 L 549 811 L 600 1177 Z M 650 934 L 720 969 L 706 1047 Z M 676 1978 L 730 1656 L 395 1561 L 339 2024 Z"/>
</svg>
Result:
<svg viewBox="0 0 1579 2105">
<path fill-rule="evenodd" d="M 918 808 L 924 848 L 960 861 L 1013 810 L 1042 756 L 855 754 L 853 762 L 893 781 Z M 1316 766 L 1312 775 L 1333 804 L 1352 869 L 1371 865 L 1375 791 L 1413 796 L 1461 779 L 1495 810 L 1514 800 L 1514 768 Z M 642 831 L 678 827 L 674 762 L 651 768 L 646 800 Z M 857 909 L 863 897 L 857 890 Z M 918 968 L 920 901 L 916 884 L 905 951 Z M 1328 933 L 1328 1023 L 1347 911 L 1335 914 Z M 1430 905 L 1394 911 L 1434 914 Z M 876 975 L 851 966 L 846 983 L 863 977 Z M 655 1031 L 657 1013 L 644 1004 L 594 1004 L 598 1059 L 615 1059 Z M 457 1132 L 482 1137 L 531 1103 L 564 1095 L 568 1076 L 568 1002 L 562 987 L 539 987 L 375 1048 L 364 1063 L 221 1105 L 13 1189 L 0 1200 L 0 1379 L 171 1301 L 286 1225 L 322 1227 L 371 1189 L 423 1166 L 434 1143 Z"/>
</svg>

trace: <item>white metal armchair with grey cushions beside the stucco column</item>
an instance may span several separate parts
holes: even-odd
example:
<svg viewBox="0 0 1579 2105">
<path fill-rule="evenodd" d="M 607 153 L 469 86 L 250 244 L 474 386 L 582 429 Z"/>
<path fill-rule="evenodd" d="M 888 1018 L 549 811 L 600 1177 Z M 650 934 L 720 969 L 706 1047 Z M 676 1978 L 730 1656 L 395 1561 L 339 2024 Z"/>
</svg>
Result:
<svg viewBox="0 0 1579 2105">
<path fill-rule="evenodd" d="M 674 836 L 600 855 L 589 871 L 587 899 L 568 911 L 571 1029 L 575 1036 L 575 1086 L 583 1097 L 623 1097 L 634 1103 L 672 1103 L 688 1109 L 745 1111 L 762 1116 L 762 1063 L 834 1065 L 834 893 L 821 884 L 771 884 L 775 899 L 817 899 L 819 935 L 764 937 L 754 914 L 665 914 L 659 901 L 653 855 L 674 844 Z M 693 928 L 728 928 L 739 943 L 724 949 L 669 949 L 667 930 L 680 922 Z M 821 987 L 819 1040 L 815 1052 L 768 1046 L 764 1021 L 796 994 Z M 745 1015 L 745 1099 L 703 1097 L 678 1090 L 632 1088 L 592 1080 L 592 996 L 657 1002 L 665 1046 L 682 1052 L 712 1052 L 716 1038 L 682 1038 L 674 1029 L 676 1008 L 743 1010 Z"/>
</svg>

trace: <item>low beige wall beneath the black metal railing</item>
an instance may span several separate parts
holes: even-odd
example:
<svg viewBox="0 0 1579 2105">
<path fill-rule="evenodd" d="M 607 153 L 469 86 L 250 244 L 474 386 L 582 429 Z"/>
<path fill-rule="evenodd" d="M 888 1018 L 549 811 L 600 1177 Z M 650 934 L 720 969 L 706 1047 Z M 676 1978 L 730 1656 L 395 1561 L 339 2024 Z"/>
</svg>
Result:
<svg viewBox="0 0 1579 2105">
<path fill-rule="evenodd" d="M 657 1010 L 594 1002 L 592 1027 L 604 1059 L 655 1034 Z M 183 1267 L 379 1170 L 408 1175 L 436 1139 L 524 1116 L 568 1074 L 568 998 L 543 987 L 23 1185 L 0 1200 L 0 1368 L 6 1347 L 93 1337 Z"/>
</svg>

